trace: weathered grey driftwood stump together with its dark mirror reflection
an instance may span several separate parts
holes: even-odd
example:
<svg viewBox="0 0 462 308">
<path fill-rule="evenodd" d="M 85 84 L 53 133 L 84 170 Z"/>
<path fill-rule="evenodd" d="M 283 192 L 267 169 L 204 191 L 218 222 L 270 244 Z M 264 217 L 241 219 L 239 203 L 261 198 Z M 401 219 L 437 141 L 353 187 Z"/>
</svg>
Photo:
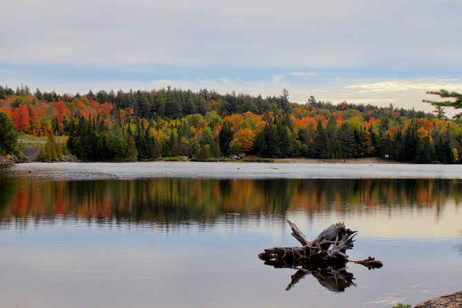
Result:
<svg viewBox="0 0 462 308">
<path fill-rule="evenodd" d="M 286 290 L 291 289 L 307 274 L 314 276 L 320 285 L 330 291 L 342 292 L 347 287 L 355 285 L 353 274 L 346 271 L 347 262 L 362 264 L 368 269 L 378 269 L 383 266 L 381 261 L 368 257 L 365 260 L 349 260 L 346 251 L 353 248 L 354 236 L 358 231 L 352 231 L 345 224 L 331 224 L 312 241 L 298 229 L 296 224 L 287 220 L 292 235 L 301 247 L 273 247 L 264 249 L 258 258 L 264 264 L 276 268 L 298 269 L 291 277 Z"/>
</svg>

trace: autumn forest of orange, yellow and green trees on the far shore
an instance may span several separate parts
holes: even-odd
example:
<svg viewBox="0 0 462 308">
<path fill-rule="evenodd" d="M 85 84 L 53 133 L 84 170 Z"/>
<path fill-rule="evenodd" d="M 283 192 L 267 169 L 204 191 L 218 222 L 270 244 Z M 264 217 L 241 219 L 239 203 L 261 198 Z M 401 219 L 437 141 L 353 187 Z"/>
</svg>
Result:
<svg viewBox="0 0 462 308">
<path fill-rule="evenodd" d="M 70 95 L 0 86 L 0 122 L 2 129 L 12 124 L 19 135 L 48 136 L 39 153 L 46 161 L 68 151 L 82 161 L 180 156 L 214 161 L 245 153 L 318 159 L 388 155 L 400 162 L 459 164 L 462 155 L 460 119 L 447 119 L 441 106 L 424 113 L 392 104 L 331 104 L 313 96 L 298 104 L 289 102 L 287 90 L 263 98 L 171 87 Z M 57 142 L 59 136 L 67 142 Z M 0 142 L 0 153 L 13 148 Z"/>
</svg>

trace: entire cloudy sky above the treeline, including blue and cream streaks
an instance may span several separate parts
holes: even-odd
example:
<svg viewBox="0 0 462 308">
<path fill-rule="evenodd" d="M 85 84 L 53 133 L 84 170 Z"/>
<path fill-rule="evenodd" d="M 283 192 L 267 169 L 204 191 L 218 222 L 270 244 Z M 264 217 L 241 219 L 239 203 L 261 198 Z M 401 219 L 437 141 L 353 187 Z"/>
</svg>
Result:
<svg viewBox="0 0 462 308">
<path fill-rule="evenodd" d="M 3 1 L 0 84 L 215 89 L 432 110 L 462 91 L 460 0 Z M 6 14 L 5 14 L 6 12 Z M 453 115 L 447 109 L 447 115 Z"/>
</svg>

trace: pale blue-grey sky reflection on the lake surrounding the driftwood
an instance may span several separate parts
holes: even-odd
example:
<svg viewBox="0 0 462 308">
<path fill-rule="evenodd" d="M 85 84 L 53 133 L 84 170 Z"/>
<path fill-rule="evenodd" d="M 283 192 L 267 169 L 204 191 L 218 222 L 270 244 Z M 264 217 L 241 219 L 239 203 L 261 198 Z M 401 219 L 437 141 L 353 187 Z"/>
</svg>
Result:
<svg viewBox="0 0 462 308">
<path fill-rule="evenodd" d="M 349 213 L 347 227 L 360 231 L 349 256 L 375 256 L 385 266 L 367 271 L 349 264 L 358 287 L 340 294 L 329 293 L 310 276 L 284 291 L 295 271 L 258 260 L 264 248 L 298 244 L 280 218 L 224 216 L 215 224 L 169 229 L 59 219 L 11 222 L 0 229 L 0 298 L 6 307 L 296 307 L 306 302 L 361 307 L 382 298 L 415 303 L 460 289 L 462 241 L 452 222 L 462 220 L 454 204 L 443 213 L 435 220 L 432 208 L 395 211 L 382 223 L 380 213 L 370 220 Z M 289 218 L 314 238 L 342 215 L 308 217 L 300 211 Z M 446 225 L 453 226 L 452 235 Z M 438 226 L 441 233 L 426 231 Z"/>
</svg>

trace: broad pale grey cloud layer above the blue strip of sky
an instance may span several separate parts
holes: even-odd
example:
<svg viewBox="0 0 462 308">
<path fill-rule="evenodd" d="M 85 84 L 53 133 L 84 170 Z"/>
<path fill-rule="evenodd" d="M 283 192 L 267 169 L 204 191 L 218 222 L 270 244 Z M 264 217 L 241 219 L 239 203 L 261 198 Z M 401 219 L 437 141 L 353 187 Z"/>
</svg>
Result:
<svg viewBox="0 0 462 308">
<path fill-rule="evenodd" d="M 0 62 L 462 69 L 460 1 L 335 2 L 6 1 Z"/>
</svg>

